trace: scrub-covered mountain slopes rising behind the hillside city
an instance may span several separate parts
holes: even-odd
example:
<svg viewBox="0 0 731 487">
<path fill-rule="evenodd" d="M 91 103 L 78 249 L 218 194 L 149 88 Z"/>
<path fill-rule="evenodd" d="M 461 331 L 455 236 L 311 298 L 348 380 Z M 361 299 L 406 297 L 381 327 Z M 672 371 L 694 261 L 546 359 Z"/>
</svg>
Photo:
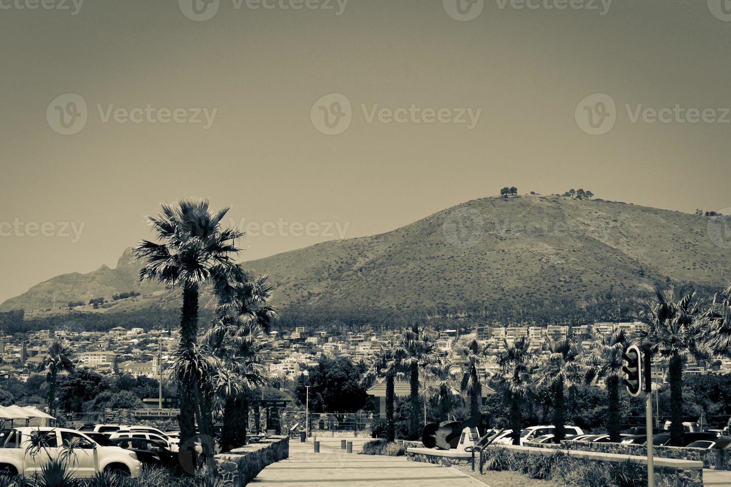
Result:
<svg viewBox="0 0 731 487">
<path fill-rule="evenodd" d="M 477 199 L 372 237 L 324 242 L 244 264 L 276 284 L 281 310 L 520 310 L 586 307 L 656 283 L 731 283 L 731 250 L 713 218 L 563 196 Z M 716 245 L 719 244 L 719 245 Z M 125 291 L 104 312 L 179 306 L 179 293 L 136 283 L 125 250 L 115 269 L 61 275 L 0 305 L 57 306 Z M 205 299 L 202 299 L 205 307 Z M 527 310 L 527 311 L 526 311 Z"/>
</svg>

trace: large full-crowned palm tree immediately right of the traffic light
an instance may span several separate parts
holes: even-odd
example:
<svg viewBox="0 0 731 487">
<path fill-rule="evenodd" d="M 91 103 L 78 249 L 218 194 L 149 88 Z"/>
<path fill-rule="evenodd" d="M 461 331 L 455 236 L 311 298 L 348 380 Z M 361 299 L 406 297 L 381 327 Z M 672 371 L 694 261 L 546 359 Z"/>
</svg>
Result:
<svg viewBox="0 0 731 487">
<path fill-rule="evenodd" d="M 640 320 L 646 329 L 637 334 L 638 345 L 648 345 L 654 356 L 668 361 L 670 383 L 670 442 L 683 444 L 683 364 L 686 358 L 710 358 L 704 343 L 708 317 L 702 316 L 702 303 L 695 293 L 675 296 L 675 290 L 655 291 L 656 299 L 642 302 Z"/>
</svg>

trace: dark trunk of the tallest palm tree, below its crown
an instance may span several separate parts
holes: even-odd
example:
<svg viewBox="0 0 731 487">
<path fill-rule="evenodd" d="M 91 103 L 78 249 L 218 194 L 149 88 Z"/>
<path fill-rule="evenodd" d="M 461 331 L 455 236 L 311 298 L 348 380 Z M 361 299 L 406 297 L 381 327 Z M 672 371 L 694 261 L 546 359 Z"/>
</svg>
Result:
<svg viewBox="0 0 731 487">
<path fill-rule="evenodd" d="M 183 288 L 183 308 L 181 310 L 181 348 L 190 348 L 198 335 L 198 288 Z M 182 389 L 182 391 L 181 391 Z M 178 386 L 178 397 L 181 402 L 181 414 L 178 425 L 181 429 L 181 445 L 195 434 L 195 397 L 192 384 Z M 199 427 L 205 427 L 198 425 Z"/>
</svg>

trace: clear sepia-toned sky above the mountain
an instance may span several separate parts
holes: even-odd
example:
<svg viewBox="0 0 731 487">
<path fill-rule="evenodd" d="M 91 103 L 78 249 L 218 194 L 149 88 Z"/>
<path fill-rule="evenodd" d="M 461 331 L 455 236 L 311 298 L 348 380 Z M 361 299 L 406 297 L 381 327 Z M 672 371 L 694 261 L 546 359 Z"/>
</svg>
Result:
<svg viewBox="0 0 731 487">
<path fill-rule="evenodd" d="M 731 213 L 721 7 L 0 0 L 0 302 L 191 196 L 231 207 L 242 261 L 506 185 Z"/>
</svg>

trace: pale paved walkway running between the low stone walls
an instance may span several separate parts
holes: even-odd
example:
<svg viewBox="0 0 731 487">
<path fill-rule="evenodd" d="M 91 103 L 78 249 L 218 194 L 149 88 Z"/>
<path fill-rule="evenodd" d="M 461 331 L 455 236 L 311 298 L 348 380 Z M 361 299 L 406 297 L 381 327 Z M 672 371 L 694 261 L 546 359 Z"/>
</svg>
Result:
<svg viewBox="0 0 731 487">
<path fill-rule="evenodd" d="M 403 456 L 371 456 L 344 453 L 338 437 L 320 437 L 320 453 L 312 453 L 312 441 L 290 440 L 289 459 L 260 472 L 252 484 L 262 487 L 485 487 L 449 467 L 438 467 Z M 370 438 L 347 438 L 358 451 Z"/>
</svg>

